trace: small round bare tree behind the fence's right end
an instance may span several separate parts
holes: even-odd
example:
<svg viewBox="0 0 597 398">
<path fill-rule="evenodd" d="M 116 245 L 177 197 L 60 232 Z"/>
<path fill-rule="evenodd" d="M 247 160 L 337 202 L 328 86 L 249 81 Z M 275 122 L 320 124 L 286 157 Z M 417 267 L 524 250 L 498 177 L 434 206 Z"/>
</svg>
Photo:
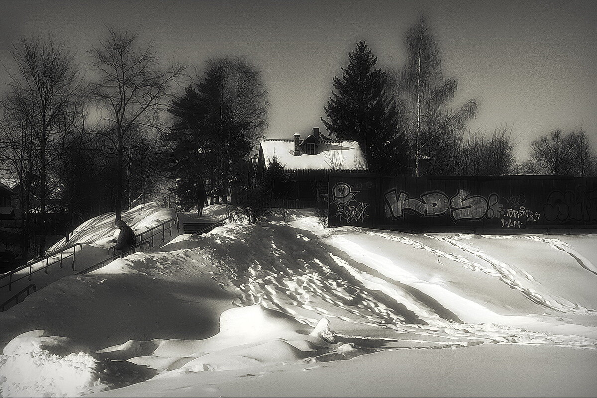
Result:
<svg viewBox="0 0 597 398">
<path fill-rule="evenodd" d="M 531 142 L 530 171 L 566 175 L 574 172 L 575 138 L 556 129 Z"/>
</svg>

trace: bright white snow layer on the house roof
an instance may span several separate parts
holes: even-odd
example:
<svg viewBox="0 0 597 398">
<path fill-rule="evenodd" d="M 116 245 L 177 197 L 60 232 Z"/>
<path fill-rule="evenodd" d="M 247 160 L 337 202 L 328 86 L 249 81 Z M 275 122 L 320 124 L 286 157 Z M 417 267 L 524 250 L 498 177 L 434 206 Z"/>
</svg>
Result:
<svg viewBox="0 0 597 398">
<path fill-rule="evenodd" d="M 278 161 L 288 170 L 368 169 L 365 156 L 356 141 L 321 140 L 317 144 L 318 153 L 315 155 L 301 153 L 294 156 L 294 140 L 261 141 L 261 149 L 266 163 L 277 156 Z"/>
</svg>

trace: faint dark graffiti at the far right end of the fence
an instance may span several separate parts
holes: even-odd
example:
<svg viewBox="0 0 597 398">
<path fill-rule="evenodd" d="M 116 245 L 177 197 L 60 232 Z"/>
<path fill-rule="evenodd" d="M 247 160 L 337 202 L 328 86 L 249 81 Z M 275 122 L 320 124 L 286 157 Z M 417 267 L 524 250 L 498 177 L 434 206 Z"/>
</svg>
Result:
<svg viewBox="0 0 597 398">
<path fill-rule="evenodd" d="M 547 221 L 597 221 L 597 189 L 552 191 L 543 205 Z"/>
</svg>

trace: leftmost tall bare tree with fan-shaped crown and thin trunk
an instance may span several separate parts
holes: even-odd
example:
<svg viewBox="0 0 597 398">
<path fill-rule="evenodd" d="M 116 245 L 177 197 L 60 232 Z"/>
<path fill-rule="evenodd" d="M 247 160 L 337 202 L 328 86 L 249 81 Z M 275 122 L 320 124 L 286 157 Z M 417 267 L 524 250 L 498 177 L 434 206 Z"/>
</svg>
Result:
<svg viewBox="0 0 597 398">
<path fill-rule="evenodd" d="M 42 225 L 40 253 L 45 251 L 45 218 L 48 166 L 47 147 L 50 136 L 59 131 L 60 118 L 84 90 L 84 81 L 74 54 L 52 39 L 21 38 L 9 48 L 16 67 L 7 69 L 14 98 L 21 103 L 24 117 L 38 143 L 39 208 Z M 23 105 L 26 104 L 26 105 Z M 11 107 L 10 104 L 7 104 Z"/>
</svg>

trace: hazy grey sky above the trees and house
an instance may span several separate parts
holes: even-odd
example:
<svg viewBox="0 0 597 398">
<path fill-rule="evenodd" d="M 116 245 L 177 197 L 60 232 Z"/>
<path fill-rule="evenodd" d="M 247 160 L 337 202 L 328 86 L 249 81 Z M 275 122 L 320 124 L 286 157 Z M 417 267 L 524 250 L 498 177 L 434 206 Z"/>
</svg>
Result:
<svg viewBox="0 0 597 398">
<path fill-rule="evenodd" d="M 0 0 L 0 58 L 10 64 L 8 45 L 21 35 L 53 35 L 85 59 L 105 24 L 153 42 L 164 64 L 243 55 L 270 94 L 267 137 L 291 138 L 323 129 L 332 79 L 358 41 L 379 66 L 401 66 L 420 13 L 444 76 L 458 80 L 451 106 L 479 101 L 471 129 L 509 125 L 526 158 L 539 135 L 582 125 L 597 149 L 597 1 Z"/>
</svg>

